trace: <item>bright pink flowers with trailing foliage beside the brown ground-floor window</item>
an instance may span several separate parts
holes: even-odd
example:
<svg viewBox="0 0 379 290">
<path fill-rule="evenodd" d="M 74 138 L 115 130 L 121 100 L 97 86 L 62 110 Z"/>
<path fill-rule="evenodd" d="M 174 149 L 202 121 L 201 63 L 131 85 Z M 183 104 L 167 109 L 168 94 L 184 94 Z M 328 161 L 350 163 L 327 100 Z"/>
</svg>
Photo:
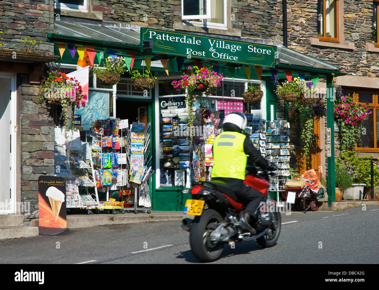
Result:
<svg viewBox="0 0 379 290">
<path fill-rule="evenodd" d="M 334 102 L 334 120 L 338 126 L 338 139 L 340 141 L 340 151 L 354 151 L 357 140 L 360 140 L 363 121 L 372 114 L 366 105 L 354 102 L 348 94 L 341 96 Z"/>
</svg>

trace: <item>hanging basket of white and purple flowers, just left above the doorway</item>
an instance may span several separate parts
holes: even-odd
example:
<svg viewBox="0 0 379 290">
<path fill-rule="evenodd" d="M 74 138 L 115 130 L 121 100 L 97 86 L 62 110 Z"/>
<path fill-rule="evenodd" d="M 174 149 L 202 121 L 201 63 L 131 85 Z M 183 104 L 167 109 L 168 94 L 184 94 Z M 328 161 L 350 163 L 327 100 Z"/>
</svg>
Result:
<svg viewBox="0 0 379 290">
<path fill-rule="evenodd" d="M 127 71 L 123 57 L 107 57 L 102 69 L 100 65 L 91 67 L 91 74 L 96 74 L 96 80 L 102 85 L 117 85 L 120 76 Z"/>
</svg>

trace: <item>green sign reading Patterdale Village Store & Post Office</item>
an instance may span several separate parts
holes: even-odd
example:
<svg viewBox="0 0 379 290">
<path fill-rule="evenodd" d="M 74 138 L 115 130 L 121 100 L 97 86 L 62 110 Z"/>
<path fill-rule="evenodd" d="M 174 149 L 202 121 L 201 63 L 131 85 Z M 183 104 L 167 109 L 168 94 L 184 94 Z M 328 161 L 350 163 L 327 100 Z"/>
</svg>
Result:
<svg viewBox="0 0 379 290">
<path fill-rule="evenodd" d="M 275 66 L 276 46 L 141 27 L 141 49 L 143 41 L 153 41 L 151 52 L 157 54 L 269 68 Z"/>
</svg>

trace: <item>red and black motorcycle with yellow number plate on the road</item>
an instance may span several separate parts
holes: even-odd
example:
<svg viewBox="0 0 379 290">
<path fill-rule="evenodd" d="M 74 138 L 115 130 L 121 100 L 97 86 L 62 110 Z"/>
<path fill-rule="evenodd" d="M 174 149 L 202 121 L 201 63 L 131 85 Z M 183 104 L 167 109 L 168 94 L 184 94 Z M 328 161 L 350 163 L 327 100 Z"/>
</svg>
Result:
<svg viewBox="0 0 379 290">
<path fill-rule="evenodd" d="M 269 175 L 275 173 L 263 170 L 248 174 L 243 182 L 269 196 Z M 182 220 L 182 229 L 189 232 L 191 250 L 201 262 L 217 260 L 226 243 L 232 246 L 233 243 L 256 239 L 262 247 L 276 244 L 281 227 L 279 211 L 272 212 L 268 206 L 262 206 L 257 221 L 252 224 L 257 231 L 253 234 L 239 222 L 240 213 L 247 203 L 239 202 L 226 183 L 216 180 L 199 181 L 193 184 L 191 190 L 182 192 L 192 194 L 192 199 L 186 200 L 183 213 L 195 215 L 193 220 Z M 207 205 L 205 210 L 204 204 Z"/>
</svg>

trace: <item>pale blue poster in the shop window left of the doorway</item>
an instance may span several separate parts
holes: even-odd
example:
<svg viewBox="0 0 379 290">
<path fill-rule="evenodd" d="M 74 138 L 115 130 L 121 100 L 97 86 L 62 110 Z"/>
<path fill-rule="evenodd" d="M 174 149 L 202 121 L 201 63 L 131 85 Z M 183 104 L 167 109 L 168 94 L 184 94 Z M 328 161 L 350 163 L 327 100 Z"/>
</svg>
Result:
<svg viewBox="0 0 379 290">
<path fill-rule="evenodd" d="M 89 91 L 86 106 L 75 108 L 75 114 L 81 115 L 81 126 L 91 126 L 93 120 L 109 118 L 109 92 Z"/>
</svg>

